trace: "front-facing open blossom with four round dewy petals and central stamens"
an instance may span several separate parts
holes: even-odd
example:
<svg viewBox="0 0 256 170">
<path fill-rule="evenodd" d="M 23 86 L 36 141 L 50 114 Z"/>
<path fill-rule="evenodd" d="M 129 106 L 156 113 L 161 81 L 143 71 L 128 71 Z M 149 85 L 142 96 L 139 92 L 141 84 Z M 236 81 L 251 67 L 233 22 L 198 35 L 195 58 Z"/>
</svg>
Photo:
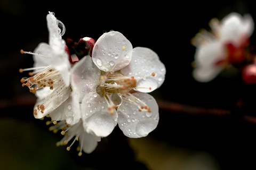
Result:
<svg viewBox="0 0 256 170">
<path fill-rule="evenodd" d="M 102 72 L 90 78 L 100 78 L 100 82 L 82 101 L 84 129 L 106 137 L 118 123 L 131 138 L 153 131 L 159 120 L 158 106 L 143 92 L 155 90 L 164 81 L 165 66 L 157 54 L 148 48 L 132 49 L 122 33 L 111 31 L 96 41 L 92 60 Z"/>
</svg>

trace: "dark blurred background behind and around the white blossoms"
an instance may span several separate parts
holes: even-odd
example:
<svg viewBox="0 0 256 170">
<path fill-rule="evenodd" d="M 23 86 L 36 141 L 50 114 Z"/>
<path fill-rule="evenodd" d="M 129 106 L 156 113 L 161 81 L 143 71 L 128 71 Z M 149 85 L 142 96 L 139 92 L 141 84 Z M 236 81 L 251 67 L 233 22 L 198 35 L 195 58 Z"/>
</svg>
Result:
<svg viewBox="0 0 256 170">
<path fill-rule="evenodd" d="M 48 42 L 46 15 L 54 12 L 66 27 L 63 39 L 97 40 L 104 32 L 123 33 L 133 47 L 153 49 L 166 66 L 165 82 L 151 92 L 159 124 L 147 137 L 126 138 L 118 126 L 92 154 L 56 147 L 61 134 L 36 120 L 36 98 L 20 79 L 33 66 L 30 55 Z M 249 13 L 253 1 L 22 1 L 1 0 L 0 169 L 255 169 L 255 86 L 241 74 L 223 72 L 209 83 L 191 76 L 195 47 L 190 39 L 212 18 Z M 255 45 L 253 33 L 251 44 Z"/>
</svg>

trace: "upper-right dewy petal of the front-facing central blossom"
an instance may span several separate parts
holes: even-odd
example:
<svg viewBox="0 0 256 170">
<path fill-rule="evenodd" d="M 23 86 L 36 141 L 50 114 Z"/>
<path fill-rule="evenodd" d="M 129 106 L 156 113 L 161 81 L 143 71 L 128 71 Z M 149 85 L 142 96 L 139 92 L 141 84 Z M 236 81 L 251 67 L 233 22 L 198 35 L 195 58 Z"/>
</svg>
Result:
<svg viewBox="0 0 256 170">
<path fill-rule="evenodd" d="M 135 79 L 143 78 L 137 83 L 137 91 L 150 92 L 160 87 L 165 79 L 166 69 L 159 60 L 158 55 L 151 49 L 145 47 L 133 48 L 132 60 L 121 72 L 126 76 L 133 76 Z M 155 73 L 155 77 L 151 76 Z M 150 87 L 150 88 L 149 88 Z"/>
</svg>

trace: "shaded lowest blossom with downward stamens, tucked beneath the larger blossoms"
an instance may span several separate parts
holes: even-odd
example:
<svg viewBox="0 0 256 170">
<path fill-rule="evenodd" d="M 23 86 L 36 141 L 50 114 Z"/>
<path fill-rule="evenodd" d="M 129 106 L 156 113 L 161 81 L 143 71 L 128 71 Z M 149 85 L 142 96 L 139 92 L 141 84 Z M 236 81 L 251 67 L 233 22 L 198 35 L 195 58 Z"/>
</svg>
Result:
<svg viewBox="0 0 256 170">
<path fill-rule="evenodd" d="M 67 146 L 68 142 L 72 141 L 67 147 L 68 151 L 70 150 L 71 146 L 73 146 L 75 141 L 79 141 L 79 147 L 77 148 L 77 151 L 79 151 L 78 156 L 82 155 L 82 150 L 85 153 L 90 154 L 101 140 L 100 137 L 84 132 L 81 121 L 73 126 L 69 126 L 66 121 L 60 121 L 54 126 L 51 126 L 49 129 L 54 133 L 61 130 L 61 134 L 64 135 L 62 140 L 56 143 L 57 146 Z"/>
</svg>

